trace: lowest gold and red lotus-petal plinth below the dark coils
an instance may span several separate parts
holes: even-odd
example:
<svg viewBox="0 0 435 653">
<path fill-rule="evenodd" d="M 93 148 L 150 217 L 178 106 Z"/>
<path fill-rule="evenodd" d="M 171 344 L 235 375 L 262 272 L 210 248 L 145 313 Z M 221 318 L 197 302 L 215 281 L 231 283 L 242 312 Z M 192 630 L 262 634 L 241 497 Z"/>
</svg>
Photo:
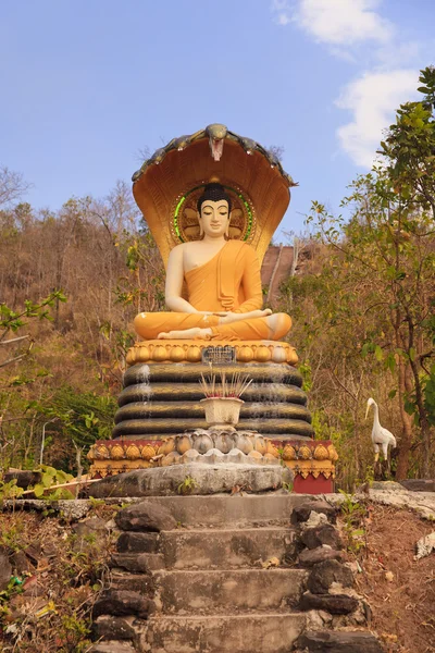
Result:
<svg viewBox="0 0 435 653">
<path fill-rule="evenodd" d="M 334 491 L 337 453 L 331 441 L 269 440 L 249 431 L 199 429 L 175 438 L 105 440 L 88 454 L 92 478 L 174 465 L 285 465 L 295 475 L 294 491 Z"/>
</svg>

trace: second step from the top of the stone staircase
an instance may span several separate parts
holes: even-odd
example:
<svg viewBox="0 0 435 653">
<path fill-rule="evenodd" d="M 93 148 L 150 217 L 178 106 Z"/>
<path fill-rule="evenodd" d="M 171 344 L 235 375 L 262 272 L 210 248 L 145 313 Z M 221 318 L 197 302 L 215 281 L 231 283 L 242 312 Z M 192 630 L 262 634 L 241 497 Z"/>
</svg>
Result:
<svg viewBox="0 0 435 653">
<path fill-rule="evenodd" d="M 281 563 L 294 535 L 288 527 L 127 531 L 120 535 L 117 550 L 150 554 L 156 560 L 150 565 L 153 569 L 261 567 L 271 558 Z"/>
</svg>

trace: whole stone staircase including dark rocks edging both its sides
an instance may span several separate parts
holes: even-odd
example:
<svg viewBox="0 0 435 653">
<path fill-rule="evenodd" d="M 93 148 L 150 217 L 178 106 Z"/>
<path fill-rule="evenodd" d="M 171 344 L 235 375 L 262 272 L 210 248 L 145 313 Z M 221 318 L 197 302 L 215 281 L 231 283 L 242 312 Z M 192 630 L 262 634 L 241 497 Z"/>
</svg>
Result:
<svg viewBox="0 0 435 653">
<path fill-rule="evenodd" d="M 284 491 L 123 508 L 111 587 L 94 606 L 92 652 L 381 653 L 368 632 L 332 630 L 359 604 L 334 521 L 324 501 Z M 330 594 L 333 582 L 341 584 Z"/>
</svg>

